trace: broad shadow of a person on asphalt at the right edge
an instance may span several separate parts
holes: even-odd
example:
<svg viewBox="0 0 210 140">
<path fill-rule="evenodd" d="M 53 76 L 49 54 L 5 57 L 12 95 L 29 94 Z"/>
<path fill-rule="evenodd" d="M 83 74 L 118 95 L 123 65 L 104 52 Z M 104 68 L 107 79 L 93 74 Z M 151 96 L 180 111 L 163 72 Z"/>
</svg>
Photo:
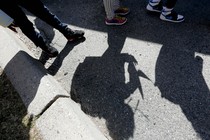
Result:
<svg viewBox="0 0 210 140">
<path fill-rule="evenodd" d="M 160 51 L 155 84 L 163 98 L 180 106 L 198 136 L 210 139 L 210 92 L 202 74 L 203 59 L 195 51 L 172 46 L 165 44 Z"/>
</svg>

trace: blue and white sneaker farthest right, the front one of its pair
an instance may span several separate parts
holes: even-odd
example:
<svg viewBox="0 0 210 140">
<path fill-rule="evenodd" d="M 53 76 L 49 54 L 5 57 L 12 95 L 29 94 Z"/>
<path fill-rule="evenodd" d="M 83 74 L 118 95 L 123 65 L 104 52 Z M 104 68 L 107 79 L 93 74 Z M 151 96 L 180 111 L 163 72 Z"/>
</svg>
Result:
<svg viewBox="0 0 210 140">
<path fill-rule="evenodd" d="M 165 14 L 164 11 L 161 12 L 160 19 L 164 21 L 169 21 L 169 22 L 183 22 L 184 21 L 184 16 L 177 14 L 175 11 L 169 12 L 169 14 Z"/>
</svg>

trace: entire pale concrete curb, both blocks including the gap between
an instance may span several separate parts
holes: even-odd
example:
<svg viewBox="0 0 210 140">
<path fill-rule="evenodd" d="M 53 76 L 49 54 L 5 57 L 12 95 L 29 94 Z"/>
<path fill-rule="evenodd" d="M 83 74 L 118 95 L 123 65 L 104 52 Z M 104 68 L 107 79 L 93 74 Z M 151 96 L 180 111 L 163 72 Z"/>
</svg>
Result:
<svg viewBox="0 0 210 140">
<path fill-rule="evenodd" d="M 105 140 L 80 106 L 9 29 L 0 27 L 0 66 L 44 140 Z"/>
</svg>

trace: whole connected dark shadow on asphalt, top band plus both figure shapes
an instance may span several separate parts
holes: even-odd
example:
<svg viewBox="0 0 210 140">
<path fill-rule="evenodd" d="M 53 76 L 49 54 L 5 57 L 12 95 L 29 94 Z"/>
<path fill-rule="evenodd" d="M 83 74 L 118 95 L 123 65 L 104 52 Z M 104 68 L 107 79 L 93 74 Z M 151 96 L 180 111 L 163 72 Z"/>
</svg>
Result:
<svg viewBox="0 0 210 140">
<path fill-rule="evenodd" d="M 209 139 L 210 92 L 202 74 L 202 58 L 195 57 L 197 52 L 210 54 L 209 27 L 206 26 L 210 21 L 209 2 L 193 0 L 189 5 L 188 1 L 179 1 L 176 9 L 186 17 L 181 24 L 166 23 L 158 16 L 146 14 L 146 1 L 126 3 L 132 10 L 128 23 L 107 27 L 102 1 L 46 2 L 64 22 L 108 33 L 106 52 L 101 57 L 87 57 L 75 71 L 72 98 L 81 104 L 85 113 L 104 118 L 113 139 L 131 138 L 135 129 L 134 112 L 124 100 L 138 88 L 142 95 L 145 93 L 139 81 L 140 70 L 133 65 L 135 58 L 121 50 L 127 37 L 159 43 L 163 46 L 156 62 L 155 85 L 163 98 L 180 106 L 198 136 Z M 125 63 L 129 64 L 131 83 L 125 83 Z M 149 80 L 147 76 L 144 78 Z"/>
</svg>

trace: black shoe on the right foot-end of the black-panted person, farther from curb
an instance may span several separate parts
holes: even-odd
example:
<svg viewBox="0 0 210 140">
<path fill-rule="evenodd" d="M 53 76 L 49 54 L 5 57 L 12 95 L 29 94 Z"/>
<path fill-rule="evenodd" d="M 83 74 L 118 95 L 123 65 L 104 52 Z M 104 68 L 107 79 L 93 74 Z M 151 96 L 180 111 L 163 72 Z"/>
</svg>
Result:
<svg viewBox="0 0 210 140">
<path fill-rule="evenodd" d="M 81 30 L 71 30 L 70 28 L 66 28 L 63 35 L 66 37 L 66 39 L 70 42 L 79 40 L 81 38 L 84 38 L 84 31 Z"/>
</svg>

